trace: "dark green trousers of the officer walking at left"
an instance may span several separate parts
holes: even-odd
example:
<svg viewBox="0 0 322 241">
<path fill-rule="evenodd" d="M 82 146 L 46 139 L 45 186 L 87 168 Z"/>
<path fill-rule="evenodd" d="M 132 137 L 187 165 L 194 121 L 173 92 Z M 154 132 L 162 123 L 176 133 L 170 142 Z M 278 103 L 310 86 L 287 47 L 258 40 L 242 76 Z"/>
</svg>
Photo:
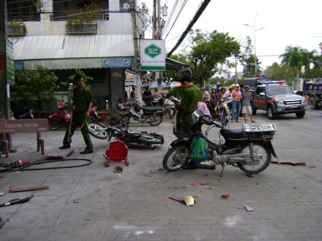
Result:
<svg viewBox="0 0 322 241">
<path fill-rule="evenodd" d="M 88 120 L 87 118 L 85 118 L 85 115 L 86 115 L 86 110 L 73 112 L 72 121 L 69 121 L 67 130 L 65 133 L 65 137 L 62 142 L 63 145 L 70 145 L 70 143 L 72 142 L 72 136 L 76 128 L 79 126 L 81 127 L 80 131 L 82 132 L 82 135 L 86 144 L 85 151 L 93 151 L 93 144 L 91 141 L 90 132 L 88 130 L 88 125 L 87 125 Z"/>
</svg>

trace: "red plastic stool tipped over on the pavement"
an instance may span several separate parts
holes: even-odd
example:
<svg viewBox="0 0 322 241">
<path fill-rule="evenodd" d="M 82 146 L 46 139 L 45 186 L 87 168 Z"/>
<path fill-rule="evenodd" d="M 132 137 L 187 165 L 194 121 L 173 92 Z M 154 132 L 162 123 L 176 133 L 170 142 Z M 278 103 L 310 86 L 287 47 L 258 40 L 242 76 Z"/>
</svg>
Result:
<svg viewBox="0 0 322 241">
<path fill-rule="evenodd" d="M 108 167 L 111 161 L 120 162 L 122 160 L 125 161 L 126 166 L 129 166 L 129 160 L 127 159 L 127 146 L 122 141 L 113 141 L 109 143 L 109 148 L 103 154 L 106 158 L 106 166 Z"/>
</svg>

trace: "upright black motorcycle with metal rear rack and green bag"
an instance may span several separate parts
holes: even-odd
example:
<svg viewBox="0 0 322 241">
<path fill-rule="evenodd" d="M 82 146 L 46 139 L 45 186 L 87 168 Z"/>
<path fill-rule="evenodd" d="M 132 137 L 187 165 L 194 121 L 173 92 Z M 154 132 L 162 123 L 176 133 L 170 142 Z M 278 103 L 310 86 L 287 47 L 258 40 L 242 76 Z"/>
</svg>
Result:
<svg viewBox="0 0 322 241">
<path fill-rule="evenodd" d="M 173 134 L 178 139 L 171 143 L 172 148 L 163 159 L 163 167 L 168 171 L 178 170 L 188 163 L 191 143 L 197 136 L 208 143 L 207 161 L 222 166 L 220 176 L 226 164 L 251 174 L 265 170 L 271 162 L 271 154 L 277 158 L 271 143 L 276 131 L 274 124 L 243 124 L 243 127 L 226 129 L 227 117 L 223 122 L 214 121 L 200 110 L 193 112 L 192 117 L 192 127 L 184 128 L 186 125 L 182 122 L 174 124 Z M 203 124 L 208 125 L 204 133 L 201 131 Z M 220 128 L 219 141 L 208 136 L 213 127 Z"/>
</svg>

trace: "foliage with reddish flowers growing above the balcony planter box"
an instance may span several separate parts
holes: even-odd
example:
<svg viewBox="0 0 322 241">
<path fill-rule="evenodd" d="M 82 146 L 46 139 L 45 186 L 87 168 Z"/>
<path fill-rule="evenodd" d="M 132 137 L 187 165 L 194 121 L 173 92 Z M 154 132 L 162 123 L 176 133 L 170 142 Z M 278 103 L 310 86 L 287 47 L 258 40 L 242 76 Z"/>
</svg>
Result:
<svg viewBox="0 0 322 241">
<path fill-rule="evenodd" d="M 102 17 L 101 12 L 102 8 L 100 8 L 97 4 L 91 2 L 89 4 L 85 4 L 83 8 L 75 10 L 71 9 L 68 15 L 67 24 L 71 23 L 92 23 L 93 20 L 99 19 Z"/>
</svg>

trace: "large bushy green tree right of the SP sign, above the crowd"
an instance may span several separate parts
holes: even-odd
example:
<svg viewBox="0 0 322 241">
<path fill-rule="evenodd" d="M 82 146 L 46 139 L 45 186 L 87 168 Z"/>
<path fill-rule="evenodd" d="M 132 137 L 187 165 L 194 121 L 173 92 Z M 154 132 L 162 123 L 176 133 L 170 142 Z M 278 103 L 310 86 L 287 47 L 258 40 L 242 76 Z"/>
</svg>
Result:
<svg viewBox="0 0 322 241">
<path fill-rule="evenodd" d="M 188 54 L 193 80 L 200 86 L 215 73 L 221 72 L 229 63 L 228 58 L 237 53 L 240 44 L 228 33 L 202 33 L 200 30 L 190 33 L 191 51 Z"/>
</svg>

